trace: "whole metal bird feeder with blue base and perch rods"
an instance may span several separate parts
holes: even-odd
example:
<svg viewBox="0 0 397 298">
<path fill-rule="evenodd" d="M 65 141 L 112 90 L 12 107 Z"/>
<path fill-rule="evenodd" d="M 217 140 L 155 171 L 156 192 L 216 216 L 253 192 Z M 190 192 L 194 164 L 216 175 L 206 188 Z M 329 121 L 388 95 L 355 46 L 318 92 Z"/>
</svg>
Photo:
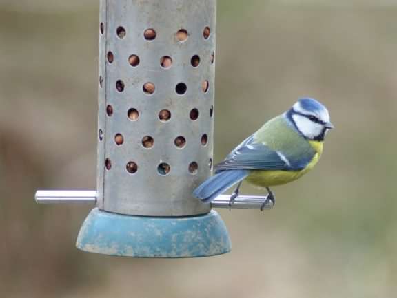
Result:
<svg viewBox="0 0 397 298">
<path fill-rule="evenodd" d="M 213 167 L 216 0 L 101 0 L 100 11 L 96 191 L 37 191 L 37 202 L 96 204 L 83 251 L 227 253 L 212 207 L 259 209 L 265 198 L 192 197 Z"/>
</svg>

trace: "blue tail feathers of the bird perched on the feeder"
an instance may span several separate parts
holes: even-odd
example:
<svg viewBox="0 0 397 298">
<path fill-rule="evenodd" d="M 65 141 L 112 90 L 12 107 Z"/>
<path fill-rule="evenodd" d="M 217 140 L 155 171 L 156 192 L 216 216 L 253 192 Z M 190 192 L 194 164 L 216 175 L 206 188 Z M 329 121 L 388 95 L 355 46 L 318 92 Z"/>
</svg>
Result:
<svg viewBox="0 0 397 298">
<path fill-rule="evenodd" d="M 221 171 L 205 180 L 194 190 L 193 195 L 204 202 L 210 202 L 233 184 L 243 180 L 248 174 L 247 170 Z"/>
</svg>

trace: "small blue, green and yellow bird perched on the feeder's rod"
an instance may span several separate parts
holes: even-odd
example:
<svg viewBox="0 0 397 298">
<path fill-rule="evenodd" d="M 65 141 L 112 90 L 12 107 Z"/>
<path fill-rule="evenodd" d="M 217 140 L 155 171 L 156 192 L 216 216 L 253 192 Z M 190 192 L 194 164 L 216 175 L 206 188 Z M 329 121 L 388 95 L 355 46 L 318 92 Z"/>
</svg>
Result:
<svg viewBox="0 0 397 298">
<path fill-rule="evenodd" d="M 276 203 L 269 187 L 301 178 L 317 164 L 325 136 L 333 128 L 325 105 L 314 98 L 300 98 L 216 164 L 214 175 L 194 189 L 193 195 L 211 202 L 237 184 L 230 196 L 229 206 L 232 206 L 244 180 L 267 190 L 262 211 L 269 200 L 273 205 Z"/>
</svg>

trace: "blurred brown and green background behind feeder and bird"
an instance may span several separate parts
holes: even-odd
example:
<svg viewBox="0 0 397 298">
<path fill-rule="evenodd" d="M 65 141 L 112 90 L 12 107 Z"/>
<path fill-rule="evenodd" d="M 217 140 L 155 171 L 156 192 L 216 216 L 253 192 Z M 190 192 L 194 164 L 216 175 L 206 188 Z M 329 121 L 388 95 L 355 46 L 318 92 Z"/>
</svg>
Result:
<svg viewBox="0 0 397 298">
<path fill-rule="evenodd" d="M 218 1 L 215 160 L 299 96 L 336 129 L 272 211 L 221 211 L 232 253 L 74 248 L 94 189 L 99 1 L 0 0 L 0 297 L 396 297 L 397 1 Z M 244 193 L 257 193 L 250 187 Z"/>
</svg>

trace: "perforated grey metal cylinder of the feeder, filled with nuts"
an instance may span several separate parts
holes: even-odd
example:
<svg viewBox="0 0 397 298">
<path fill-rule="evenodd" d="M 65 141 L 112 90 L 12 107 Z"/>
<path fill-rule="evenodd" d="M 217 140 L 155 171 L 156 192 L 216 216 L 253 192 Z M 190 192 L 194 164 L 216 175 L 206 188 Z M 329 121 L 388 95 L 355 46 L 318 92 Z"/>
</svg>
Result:
<svg viewBox="0 0 397 298">
<path fill-rule="evenodd" d="M 216 0 L 101 0 L 99 209 L 210 211 L 215 21 Z"/>
</svg>

